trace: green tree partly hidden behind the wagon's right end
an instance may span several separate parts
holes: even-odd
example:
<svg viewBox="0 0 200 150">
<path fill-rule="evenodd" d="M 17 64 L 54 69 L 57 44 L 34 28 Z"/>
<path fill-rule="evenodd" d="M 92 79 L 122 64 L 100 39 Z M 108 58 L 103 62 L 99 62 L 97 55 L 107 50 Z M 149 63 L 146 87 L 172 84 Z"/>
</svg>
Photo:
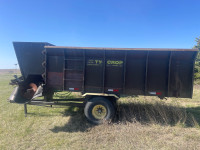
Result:
<svg viewBox="0 0 200 150">
<path fill-rule="evenodd" d="M 198 48 L 200 50 L 200 37 L 196 38 L 196 42 L 197 42 L 197 45 L 195 46 L 195 48 Z M 196 62 L 195 62 L 194 79 L 200 80 L 200 52 L 198 52 Z"/>
</svg>

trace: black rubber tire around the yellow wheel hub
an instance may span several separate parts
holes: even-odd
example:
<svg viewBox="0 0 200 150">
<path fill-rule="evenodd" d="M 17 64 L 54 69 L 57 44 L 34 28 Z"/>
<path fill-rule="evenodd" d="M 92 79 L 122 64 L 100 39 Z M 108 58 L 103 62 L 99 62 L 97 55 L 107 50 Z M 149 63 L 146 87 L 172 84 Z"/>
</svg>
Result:
<svg viewBox="0 0 200 150">
<path fill-rule="evenodd" d="M 96 105 L 103 105 L 106 108 L 107 114 L 104 117 L 104 119 L 96 119 L 92 115 L 92 109 Z M 87 117 L 87 119 L 91 123 L 102 124 L 104 121 L 111 120 L 114 117 L 115 107 L 114 107 L 113 103 L 110 100 L 106 99 L 105 97 L 94 97 L 94 98 L 91 98 L 90 100 L 88 100 L 88 102 L 86 103 L 85 108 L 84 108 L 84 113 L 85 113 L 85 116 Z"/>
</svg>

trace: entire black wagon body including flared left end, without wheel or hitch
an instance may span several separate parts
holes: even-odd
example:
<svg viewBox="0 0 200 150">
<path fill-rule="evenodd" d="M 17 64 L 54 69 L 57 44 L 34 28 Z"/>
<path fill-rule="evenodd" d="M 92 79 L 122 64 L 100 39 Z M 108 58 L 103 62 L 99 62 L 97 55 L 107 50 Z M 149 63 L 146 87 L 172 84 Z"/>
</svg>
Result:
<svg viewBox="0 0 200 150">
<path fill-rule="evenodd" d="M 83 95 L 192 98 L 198 49 L 63 47 L 14 42 L 24 82 Z"/>
</svg>

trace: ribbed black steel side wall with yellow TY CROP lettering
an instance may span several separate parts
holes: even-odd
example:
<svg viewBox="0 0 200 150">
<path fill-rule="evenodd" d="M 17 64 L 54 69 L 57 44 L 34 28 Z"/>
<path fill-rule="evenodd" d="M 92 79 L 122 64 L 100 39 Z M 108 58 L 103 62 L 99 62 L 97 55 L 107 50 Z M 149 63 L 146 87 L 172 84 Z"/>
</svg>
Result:
<svg viewBox="0 0 200 150">
<path fill-rule="evenodd" d="M 46 50 L 47 58 L 58 59 L 53 67 L 47 66 L 47 73 L 51 72 L 47 78 L 59 81 L 51 82 L 51 88 L 118 95 L 192 95 L 196 51 Z"/>
</svg>

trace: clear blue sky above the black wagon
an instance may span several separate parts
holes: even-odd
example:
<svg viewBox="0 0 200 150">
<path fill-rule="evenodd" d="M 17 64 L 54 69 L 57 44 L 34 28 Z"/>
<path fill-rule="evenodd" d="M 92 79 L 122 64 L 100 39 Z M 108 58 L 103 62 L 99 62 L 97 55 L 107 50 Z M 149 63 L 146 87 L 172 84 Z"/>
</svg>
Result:
<svg viewBox="0 0 200 150">
<path fill-rule="evenodd" d="M 0 0 L 0 69 L 13 41 L 57 46 L 192 48 L 200 0 Z"/>
</svg>

